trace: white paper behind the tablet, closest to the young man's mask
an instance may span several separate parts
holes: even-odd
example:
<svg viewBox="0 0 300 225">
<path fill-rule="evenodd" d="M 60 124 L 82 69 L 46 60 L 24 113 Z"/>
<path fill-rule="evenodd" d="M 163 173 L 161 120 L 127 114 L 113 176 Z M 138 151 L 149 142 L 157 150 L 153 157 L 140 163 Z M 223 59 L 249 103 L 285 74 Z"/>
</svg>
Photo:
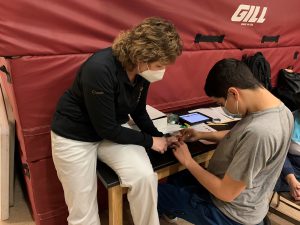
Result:
<svg viewBox="0 0 300 225">
<path fill-rule="evenodd" d="M 211 117 L 212 119 L 217 119 L 218 121 L 214 121 L 214 123 L 228 123 L 231 121 L 240 120 L 239 118 L 233 118 L 227 115 L 221 107 L 200 108 L 191 110 L 189 112 L 200 112 L 204 115 Z"/>
</svg>

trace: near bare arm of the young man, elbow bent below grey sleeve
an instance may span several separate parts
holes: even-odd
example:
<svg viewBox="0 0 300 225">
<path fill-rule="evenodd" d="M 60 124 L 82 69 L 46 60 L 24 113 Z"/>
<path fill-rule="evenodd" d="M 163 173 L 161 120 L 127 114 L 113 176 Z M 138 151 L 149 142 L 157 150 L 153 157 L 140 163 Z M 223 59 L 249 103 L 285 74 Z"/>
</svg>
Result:
<svg viewBox="0 0 300 225">
<path fill-rule="evenodd" d="M 183 164 L 193 176 L 216 198 L 231 202 L 246 188 L 242 181 L 232 179 L 225 174 L 223 179 L 203 169 L 192 157 L 187 145 L 177 143 L 174 151 L 175 157 Z"/>
</svg>

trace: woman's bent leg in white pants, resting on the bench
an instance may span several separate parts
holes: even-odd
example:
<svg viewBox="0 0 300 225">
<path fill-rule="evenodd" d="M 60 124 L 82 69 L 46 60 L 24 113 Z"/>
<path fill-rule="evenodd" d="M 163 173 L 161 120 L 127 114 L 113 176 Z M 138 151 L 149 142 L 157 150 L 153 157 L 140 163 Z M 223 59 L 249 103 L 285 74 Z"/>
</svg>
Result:
<svg viewBox="0 0 300 225">
<path fill-rule="evenodd" d="M 104 140 L 99 144 L 98 157 L 117 173 L 121 186 L 129 188 L 127 198 L 134 224 L 159 225 L 157 174 L 145 148 Z"/>
</svg>

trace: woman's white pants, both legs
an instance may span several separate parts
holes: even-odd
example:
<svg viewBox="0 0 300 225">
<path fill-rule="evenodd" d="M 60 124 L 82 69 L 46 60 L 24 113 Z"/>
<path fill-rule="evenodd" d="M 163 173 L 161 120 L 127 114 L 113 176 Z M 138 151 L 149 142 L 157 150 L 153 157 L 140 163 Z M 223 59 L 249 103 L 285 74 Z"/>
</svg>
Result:
<svg viewBox="0 0 300 225">
<path fill-rule="evenodd" d="M 100 225 L 97 205 L 98 157 L 128 187 L 128 201 L 135 225 L 159 225 L 157 175 L 145 149 L 107 140 L 81 142 L 51 132 L 52 157 L 68 206 L 69 225 Z M 100 168 L 101 169 L 101 168 Z"/>
</svg>

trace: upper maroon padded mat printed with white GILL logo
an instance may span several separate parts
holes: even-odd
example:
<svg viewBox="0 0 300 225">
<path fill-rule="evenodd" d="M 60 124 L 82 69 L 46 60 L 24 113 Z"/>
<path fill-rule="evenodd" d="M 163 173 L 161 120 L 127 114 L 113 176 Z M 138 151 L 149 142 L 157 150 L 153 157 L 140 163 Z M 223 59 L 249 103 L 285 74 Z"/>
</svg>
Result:
<svg viewBox="0 0 300 225">
<path fill-rule="evenodd" d="M 95 52 L 149 16 L 172 20 L 189 51 L 296 46 L 299 8 L 298 0 L 1 1 L 0 55 Z M 196 33 L 225 38 L 222 44 L 194 45 Z M 262 44 L 264 35 L 280 35 L 279 42 Z"/>
</svg>

